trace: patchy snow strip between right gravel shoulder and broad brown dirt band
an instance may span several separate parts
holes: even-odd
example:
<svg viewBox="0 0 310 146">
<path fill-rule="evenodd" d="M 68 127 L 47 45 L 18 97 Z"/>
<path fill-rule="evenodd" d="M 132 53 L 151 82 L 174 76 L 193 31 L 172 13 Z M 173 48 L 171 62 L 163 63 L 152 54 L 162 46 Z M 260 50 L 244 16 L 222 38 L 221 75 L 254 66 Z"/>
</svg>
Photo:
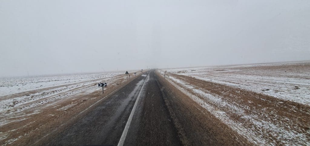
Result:
<svg viewBox="0 0 310 146">
<path fill-rule="evenodd" d="M 162 73 L 162 71 L 159 71 Z M 167 76 L 166 76 L 167 79 Z M 202 107 L 208 110 L 218 119 L 222 120 L 230 128 L 246 137 L 250 142 L 259 145 L 278 145 L 278 144 L 306 144 L 309 145 L 307 135 L 291 129 L 286 124 L 276 124 L 271 121 L 260 119 L 257 115 L 244 112 L 243 109 L 235 106 L 233 103 L 227 103 L 222 100 L 219 95 L 214 95 L 208 91 L 203 91 L 199 87 L 189 85 L 180 79 L 172 76 L 168 77 L 168 81 L 184 92 Z M 192 91 L 195 94 L 190 93 Z M 247 107 L 243 107 L 247 109 Z M 229 110 L 229 113 L 221 110 Z M 263 112 L 263 111 L 261 111 Z M 231 117 L 231 113 L 241 116 L 243 120 L 236 121 Z M 287 119 L 288 120 L 288 119 Z M 290 122 L 288 120 L 288 122 Z M 271 134 L 272 136 L 269 136 Z M 275 141 L 277 139 L 277 141 Z M 280 143 L 278 141 L 281 141 Z"/>
</svg>

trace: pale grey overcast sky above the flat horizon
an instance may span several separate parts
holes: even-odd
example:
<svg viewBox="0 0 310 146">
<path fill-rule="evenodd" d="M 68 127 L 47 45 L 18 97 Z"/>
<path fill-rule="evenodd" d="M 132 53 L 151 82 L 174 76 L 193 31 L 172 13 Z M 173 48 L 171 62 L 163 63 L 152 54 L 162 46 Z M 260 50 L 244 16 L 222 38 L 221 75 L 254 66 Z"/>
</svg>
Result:
<svg viewBox="0 0 310 146">
<path fill-rule="evenodd" d="M 298 60 L 309 0 L 0 0 L 0 76 Z"/>
</svg>

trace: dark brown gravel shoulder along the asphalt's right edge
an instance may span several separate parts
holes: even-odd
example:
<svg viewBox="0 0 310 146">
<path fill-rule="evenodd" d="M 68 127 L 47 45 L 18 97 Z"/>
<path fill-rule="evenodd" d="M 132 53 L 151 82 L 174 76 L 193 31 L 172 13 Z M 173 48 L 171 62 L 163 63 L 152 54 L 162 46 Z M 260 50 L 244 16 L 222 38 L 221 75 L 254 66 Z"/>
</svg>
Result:
<svg viewBox="0 0 310 146">
<path fill-rule="evenodd" d="M 252 145 L 157 73 L 170 116 L 184 145 Z"/>
</svg>

